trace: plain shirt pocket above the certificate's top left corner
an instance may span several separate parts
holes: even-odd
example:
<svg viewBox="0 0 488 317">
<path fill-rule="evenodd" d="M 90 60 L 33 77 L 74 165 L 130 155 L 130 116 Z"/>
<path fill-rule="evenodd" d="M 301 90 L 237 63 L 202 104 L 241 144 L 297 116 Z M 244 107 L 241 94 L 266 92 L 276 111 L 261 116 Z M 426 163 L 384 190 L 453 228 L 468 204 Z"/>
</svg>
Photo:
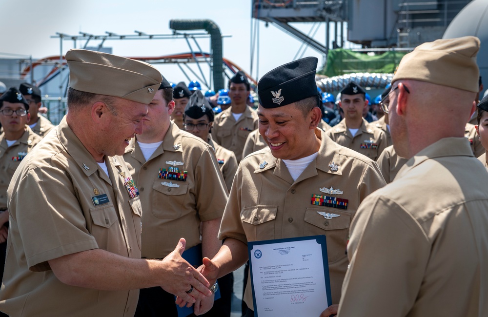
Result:
<svg viewBox="0 0 488 317">
<path fill-rule="evenodd" d="M 278 206 L 259 205 L 246 207 L 241 212 L 241 221 L 248 241 L 274 239 L 274 221 Z"/>
</svg>

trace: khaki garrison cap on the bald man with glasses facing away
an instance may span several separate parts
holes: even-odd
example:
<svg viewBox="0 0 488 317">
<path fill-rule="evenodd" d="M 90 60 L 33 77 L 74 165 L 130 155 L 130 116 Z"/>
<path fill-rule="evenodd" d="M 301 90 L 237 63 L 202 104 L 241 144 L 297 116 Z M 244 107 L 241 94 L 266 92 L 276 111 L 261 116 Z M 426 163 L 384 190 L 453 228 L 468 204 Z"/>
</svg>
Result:
<svg viewBox="0 0 488 317">
<path fill-rule="evenodd" d="M 414 79 L 477 93 L 479 48 L 473 36 L 423 43 L 403 57 L 391 82 Z"/>
</svg>

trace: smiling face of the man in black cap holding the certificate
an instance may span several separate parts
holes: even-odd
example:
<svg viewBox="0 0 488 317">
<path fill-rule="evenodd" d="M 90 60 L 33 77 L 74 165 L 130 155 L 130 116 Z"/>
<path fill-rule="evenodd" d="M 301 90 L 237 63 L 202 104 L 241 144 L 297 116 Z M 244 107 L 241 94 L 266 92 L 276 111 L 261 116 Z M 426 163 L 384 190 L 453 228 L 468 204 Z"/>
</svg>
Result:
<svg viewBox="0 0 488 317">
<path fill-rule="evenodd" d="M 269 109 L 259 105 L 259 133 L 275 158 L 305 158 L 317 152 L 317 144 L 313 142 L 314 127 L 310 122 L 314 120 L 312 117 L 320 119 L 321 115 L 320 109 L 315 107 L 304 116 L 295 102 Z"/>
</svg>

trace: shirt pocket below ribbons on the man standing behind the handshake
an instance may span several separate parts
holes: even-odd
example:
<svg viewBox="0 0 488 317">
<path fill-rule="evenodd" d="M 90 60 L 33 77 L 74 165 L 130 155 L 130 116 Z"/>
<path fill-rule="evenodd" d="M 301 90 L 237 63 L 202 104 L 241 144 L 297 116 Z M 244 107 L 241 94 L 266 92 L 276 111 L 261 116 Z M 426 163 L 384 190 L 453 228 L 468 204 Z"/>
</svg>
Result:
<svg viewBox="0 0 488 317">
<path fill-rule="evenodd" d="M 168 179 L 162 180 L 157 180 L 153 184 L 151 212 L 156 218 L 180 218 L 185 205 L 185 198 L 187 198 L 188 184 L 172 182 Z M 175 187 L 165 186 L 163 185 L 164 182 Z"/>
</svg>

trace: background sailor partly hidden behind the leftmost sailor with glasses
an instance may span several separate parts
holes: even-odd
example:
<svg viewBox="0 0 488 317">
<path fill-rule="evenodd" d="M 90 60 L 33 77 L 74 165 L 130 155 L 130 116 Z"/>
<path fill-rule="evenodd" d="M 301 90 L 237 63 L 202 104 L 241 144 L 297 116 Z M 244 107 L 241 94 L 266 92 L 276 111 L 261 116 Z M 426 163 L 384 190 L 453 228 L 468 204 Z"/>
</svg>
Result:
<svg viewBox="0 0 488 317">
<path fill-rule="evenodd" d="M 34 131 L 34 133 L 44 137 L 49 131 L 51 131 L 52 128 L 54 128 L 54 124 L 52 124 L 48 119 L 39 115 L 39 108 L 42 105 L 41 89 L 30 83 L 23 82 L 20 84 L 19 90 L 29 105 L 31 105 L 29 110 L 31 118 L 27 124 L 32 131 Z"/>
</svg>

